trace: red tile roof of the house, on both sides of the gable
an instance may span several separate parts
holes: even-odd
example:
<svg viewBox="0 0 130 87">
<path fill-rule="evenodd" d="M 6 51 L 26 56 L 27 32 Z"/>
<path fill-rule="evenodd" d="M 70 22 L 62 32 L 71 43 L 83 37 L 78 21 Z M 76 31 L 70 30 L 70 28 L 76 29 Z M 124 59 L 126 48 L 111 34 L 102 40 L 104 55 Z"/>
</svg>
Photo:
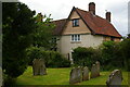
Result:
<svg viewBox="0 0 130 87">
<path fill-rule="evenodd" d="M 98 15 L 93 15 L 89 11 L 83 11 L 75 7 L 73 10 L 75 10 L 80 15 L 84 24 L 92 32 L 92 34 L 121 38 L 121 35 L 116 30 L 116 28 L 107 20 L 102 18 Z M 67 20 L 60 20 L 54 22 L 56 25 L 56 28 L 55 28 L 56 35 L 60 35 L 62 33 L 66 21 Z"/>
</svg>

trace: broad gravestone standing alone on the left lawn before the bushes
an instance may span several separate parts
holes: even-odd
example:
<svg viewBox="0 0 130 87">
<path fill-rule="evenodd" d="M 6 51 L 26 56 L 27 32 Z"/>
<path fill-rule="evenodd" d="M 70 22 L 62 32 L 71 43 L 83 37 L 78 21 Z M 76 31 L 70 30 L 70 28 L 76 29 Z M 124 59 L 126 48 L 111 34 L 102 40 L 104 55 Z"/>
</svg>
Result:
<svg viewBox="0 0 130 87">
<path fill-rule="evenodd" d="M 46 75 L 46 64 L 43 59 L 35 59 L 32 61 L 32 73 L 34 75 Z"/>
</svg>

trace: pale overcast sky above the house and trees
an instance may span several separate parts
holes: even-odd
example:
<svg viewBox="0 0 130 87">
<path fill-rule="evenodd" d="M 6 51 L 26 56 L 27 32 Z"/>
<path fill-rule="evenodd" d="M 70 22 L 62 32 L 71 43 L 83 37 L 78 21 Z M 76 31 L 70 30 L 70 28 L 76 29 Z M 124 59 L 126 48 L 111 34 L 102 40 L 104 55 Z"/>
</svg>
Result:
<svg viewBox="0 0 130 87">
<path fill-rule="evenodd" d="M 128 2 L 130 0 L 20 0 L 37 13 L 51 14 L 53 20 L 67 18 L 73 7 L 88 11 L 89 2 L 95 3 L 95 14 L 105 18 L 112 12 L 112 24 L 122 35 L 128 34 Z"/>
</svg>

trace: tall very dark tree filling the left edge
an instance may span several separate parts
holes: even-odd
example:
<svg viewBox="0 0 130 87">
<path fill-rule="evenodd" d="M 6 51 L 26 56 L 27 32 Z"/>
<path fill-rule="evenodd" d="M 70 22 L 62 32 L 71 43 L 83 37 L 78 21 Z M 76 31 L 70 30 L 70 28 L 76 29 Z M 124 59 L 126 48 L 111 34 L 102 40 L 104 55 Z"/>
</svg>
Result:
<svg viewBox="0 0 130 87">
<path fill-rule="evenodd" d="M 26 48 L 31 44 L 31 34 L 36 27 L 35 11 L 24 3 L 2 3 L 3 28 L 3 72 L 16 78 L 27 67 Z"/>
</svg>

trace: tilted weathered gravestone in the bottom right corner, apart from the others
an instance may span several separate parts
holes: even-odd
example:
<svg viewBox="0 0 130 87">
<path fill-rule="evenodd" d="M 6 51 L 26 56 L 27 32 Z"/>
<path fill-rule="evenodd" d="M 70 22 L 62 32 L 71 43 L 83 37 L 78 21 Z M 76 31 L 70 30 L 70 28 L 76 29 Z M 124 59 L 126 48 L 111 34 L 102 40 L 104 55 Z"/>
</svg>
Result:
<svg viewBox="0 0 130 87">
<path fill-rule="evenodd" d="M 122 82 L 122 73 L 119 70 L 114 70 L 106 80 L 107 87 L 120 87 Z"/>
</svg>

